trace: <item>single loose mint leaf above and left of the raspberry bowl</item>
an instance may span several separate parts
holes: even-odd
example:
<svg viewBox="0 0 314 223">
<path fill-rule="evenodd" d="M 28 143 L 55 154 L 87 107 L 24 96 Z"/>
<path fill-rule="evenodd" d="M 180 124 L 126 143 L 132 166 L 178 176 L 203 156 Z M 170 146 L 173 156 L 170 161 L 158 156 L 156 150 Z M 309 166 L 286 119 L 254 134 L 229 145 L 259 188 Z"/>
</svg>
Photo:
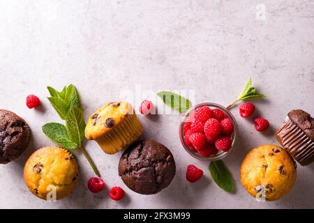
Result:
<svg viewBox="0 0 314 223">
<path fill-rule="evenodd" d="M 192 105 L 188 99 L 171 91 L 160 91 L 157 95 L 163 100 L 165 105 L 180 113 L 186 112 Z"/>
</svg>

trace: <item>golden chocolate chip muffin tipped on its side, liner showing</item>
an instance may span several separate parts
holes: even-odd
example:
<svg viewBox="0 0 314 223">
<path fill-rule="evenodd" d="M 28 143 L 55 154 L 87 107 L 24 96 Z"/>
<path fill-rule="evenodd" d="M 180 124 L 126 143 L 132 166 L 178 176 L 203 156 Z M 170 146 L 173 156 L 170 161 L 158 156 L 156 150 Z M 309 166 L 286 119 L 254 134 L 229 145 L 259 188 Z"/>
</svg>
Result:
<svg viewBox="0 0 314 223">
<path fill-rule="evenodd" d="M 142 124 L 128 102 L 110 102 L 91 114 L 85 137 L 95 140 L 105 153 L 114 154 L 133 143 L 142 132 Z"/>
</svg>

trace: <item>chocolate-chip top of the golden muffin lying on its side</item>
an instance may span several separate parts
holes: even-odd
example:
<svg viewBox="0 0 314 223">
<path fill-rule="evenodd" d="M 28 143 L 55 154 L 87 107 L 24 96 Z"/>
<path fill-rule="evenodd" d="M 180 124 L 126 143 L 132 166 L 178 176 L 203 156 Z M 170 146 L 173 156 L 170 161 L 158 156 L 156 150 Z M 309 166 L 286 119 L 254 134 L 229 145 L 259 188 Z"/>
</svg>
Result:
<svg viewBox="0 0 314 223">
<path fill-rule="evenodd" d="M 133 107 L 128 102 L 105 104 L 89 117 L 85 128 L 85 137 L 89 140 L 102 137 L 107 132 L 117 128 L 128 114 L 135 114 Z"/>
</svg>

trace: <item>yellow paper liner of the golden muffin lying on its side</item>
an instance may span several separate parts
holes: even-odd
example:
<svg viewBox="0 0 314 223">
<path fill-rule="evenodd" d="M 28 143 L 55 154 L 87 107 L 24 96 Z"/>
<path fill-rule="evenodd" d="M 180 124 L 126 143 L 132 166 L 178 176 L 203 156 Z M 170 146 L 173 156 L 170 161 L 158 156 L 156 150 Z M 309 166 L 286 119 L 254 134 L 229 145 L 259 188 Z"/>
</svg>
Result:
<svg viewBox="0 0 314 223">
<path fill-rule="evenodd" d="M 142 132 L 142 124 L 133 112 L 133 114 L 128 114 L 123 123 L 96 141 L 105 153 L 114 154 L 133 143 Z"/>
</svg>

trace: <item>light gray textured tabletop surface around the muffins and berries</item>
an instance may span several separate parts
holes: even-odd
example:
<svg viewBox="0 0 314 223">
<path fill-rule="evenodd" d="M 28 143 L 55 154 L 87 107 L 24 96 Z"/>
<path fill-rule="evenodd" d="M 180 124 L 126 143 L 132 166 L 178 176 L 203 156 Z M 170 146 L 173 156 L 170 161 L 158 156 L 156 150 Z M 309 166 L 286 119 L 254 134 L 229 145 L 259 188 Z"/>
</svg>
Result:
<svg viewBox="0 0 314 223">
<path fill-rule="evenodd" d="M 264 3 L 266 20 L 256 6 Z M 260 17 L 258 17 L 260 18 Z M 257 202 L 239 183 L 246 152 L 260 144 L 277 144 L 274 130 L 290 109 L 313 114 L 313 1 L 0 1 L 0 107 L 23 116 L 33 130 L 29 149 L 10 164 L 0 165 L 0 208 L 314 208 L 314 164 L 298 167 L 297 183 L 285 198 Z M 87 118 L 105 102 L 121 100 L 121 90 L 195 90 L 196 102 L 227 105 L 248 77 L 267 100 L 255 102 L 271 129 L 256 132 L 239 117 L 237 146 L 225 159 L 237 183 L 234 194 L 220 190 L 207 171 L 208 162 L 184 152 L 178 137 L 180 116 L 143 118 L 142 138 L 156 139 L 174 153 L 177 175 L 154 196 L 131 192 L 117 174 L 121 153 L 105 155 L 94 141 L 86 147 L 107 189 L 92 194 L 93 176 L 80 153 L 80 184 L 70 197 L 41 201 L 24 184 L 27 157 L 51 145 L 40 128 L 59 117 L 48 104 L 45 87 L 73 83 Z M 40 110 L 24 105 L 29 93 L 43 100 Z M 195 184 L 185 179 L 186 166 L 202 167 Z M 108 188 L 126 190 L 123 201 L 111 201 Z"/>
</svg>

